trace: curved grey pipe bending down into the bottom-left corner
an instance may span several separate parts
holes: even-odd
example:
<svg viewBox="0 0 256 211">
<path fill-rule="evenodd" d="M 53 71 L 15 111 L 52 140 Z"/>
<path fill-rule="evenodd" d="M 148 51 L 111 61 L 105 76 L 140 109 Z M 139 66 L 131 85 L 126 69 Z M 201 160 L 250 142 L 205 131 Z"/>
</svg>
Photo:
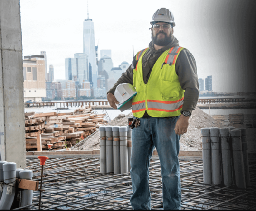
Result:
<svg viewBox="0 0 256 211">
<path fill-rule="evenodd" d="M 0 201 L 0 210 L 10 210 L 15 196 L 16 163 L 7 162 L 3 164 L 4 185 Z"/>
</svg>

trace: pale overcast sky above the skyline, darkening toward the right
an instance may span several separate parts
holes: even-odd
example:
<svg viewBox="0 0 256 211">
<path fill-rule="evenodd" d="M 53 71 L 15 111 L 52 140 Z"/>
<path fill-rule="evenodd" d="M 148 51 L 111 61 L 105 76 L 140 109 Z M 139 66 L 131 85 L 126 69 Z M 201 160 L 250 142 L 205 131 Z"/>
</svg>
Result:
<svg viewBox="0 0 256 211">
<path fill-rule="evenodd" d="M 238 3 L 236 3 L 238 2 Z M 150 21 L 161 7 L 172 11 L 174 36 L 197 63 L 198 78 L 212 75 L 213 91 L 251 91 L 254 73 L 238 63 L 242 36 L 236 33 L 241 0 L 89 0 L 95 26 L 95 45 L 112 50 L 114 67 L 129 64 L 151 41 Z M 251 2 L 247 0 L 247 2 Z M 247 8 L 250 5 L 246 5 Z M 247 11 L 247 8 L 245 10 Z M 65 79 L 65 58 L 83 53 L 83 21 L 87 0 L 20 0 L 23 56 L 46 51 L 47 70 Z M 242 12 L 240 16 L 245 16 Z M 239 21 L 239 20 L 238 20 Z M 238 45 L 237 45 L 238 43 Z M 235 45 L 236 44 L 236 45 Z M 234 46 L 237 46 L 234 47 Z M 246 60 L 243 60 L 246 63 Z"/>
</svg>

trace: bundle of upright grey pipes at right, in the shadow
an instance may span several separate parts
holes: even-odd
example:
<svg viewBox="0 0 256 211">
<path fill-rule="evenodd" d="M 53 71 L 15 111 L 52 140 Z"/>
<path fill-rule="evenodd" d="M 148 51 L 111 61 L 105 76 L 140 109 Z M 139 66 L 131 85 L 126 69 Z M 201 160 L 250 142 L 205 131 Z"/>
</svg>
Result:
<svg viewBox="0 0 256 211">
<path fill-rule="evenodd" d="M 245 128 L 202 128 L 205 184 L 250 185 Z"/>
</svg>

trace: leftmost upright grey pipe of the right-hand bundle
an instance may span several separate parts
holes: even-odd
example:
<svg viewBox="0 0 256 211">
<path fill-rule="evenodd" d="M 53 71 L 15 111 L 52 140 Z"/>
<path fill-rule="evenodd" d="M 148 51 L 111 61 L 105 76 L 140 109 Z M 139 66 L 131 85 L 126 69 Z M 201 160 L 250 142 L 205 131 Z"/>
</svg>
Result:
<svg viewBox="0 0 256 211">
<path fill-rule="evenodd" d="M 201 134 L 204 183 L 212 184 L 210 128 L 201 128 Z"/>
</svg>

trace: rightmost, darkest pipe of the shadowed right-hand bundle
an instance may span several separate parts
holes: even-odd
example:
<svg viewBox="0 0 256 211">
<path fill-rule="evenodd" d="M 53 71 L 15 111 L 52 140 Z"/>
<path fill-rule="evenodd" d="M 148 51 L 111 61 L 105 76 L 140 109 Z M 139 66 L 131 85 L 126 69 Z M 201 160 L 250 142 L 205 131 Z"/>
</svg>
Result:
<svg viewBox="0 0 256 211">
<path fill-rule="evenodd" d="M 249 172 L 249 162 L 248 162 L 248 152 L 247 152 L 247 139 L 246 139 L 246 128 L 237 128 L 241 130 L 242 133 L 242 152 L 244 159 L 244 167 L 245 167 L 245 177 L 246 177 L 246 185 L 250 186 L 250 172 Z"/>
</svg>

